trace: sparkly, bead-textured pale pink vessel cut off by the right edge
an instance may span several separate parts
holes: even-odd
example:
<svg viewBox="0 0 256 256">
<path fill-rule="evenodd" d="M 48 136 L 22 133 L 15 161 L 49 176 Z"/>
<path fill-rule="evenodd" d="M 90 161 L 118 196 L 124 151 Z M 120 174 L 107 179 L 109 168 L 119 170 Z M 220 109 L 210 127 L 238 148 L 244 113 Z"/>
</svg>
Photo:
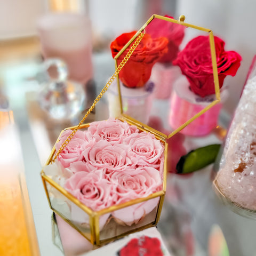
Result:
<svg viewBox="0 0 256 256">
<path fill-rule="evenodd" d="M 256 76 L 250 78 L 231 122 L 217 183 L 231 202 L 256 210 Z"/>
</svg>

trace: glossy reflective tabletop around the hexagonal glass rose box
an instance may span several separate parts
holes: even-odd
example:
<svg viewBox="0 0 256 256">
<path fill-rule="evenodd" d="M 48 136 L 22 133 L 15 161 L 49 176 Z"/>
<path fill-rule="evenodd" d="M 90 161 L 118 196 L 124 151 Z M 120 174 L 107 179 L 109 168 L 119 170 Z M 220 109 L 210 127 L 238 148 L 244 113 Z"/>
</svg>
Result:
<svg viewBox="0 0 256 256">
<path fill-rule="evenodd" d="M 39 251 L 43 256 L 58 256 L 63 255 L 65 246 L 54 234 L 56 229 L 53 227 L 58 227 L 58 220 L 52 215 L 47 202 L 40 172 L 60 131 L 76 125 L 84 113 L 73 120 L 57 122 L 39 107 L 37 95 L 40 84 L 35 75 L 41 62 L 39 55 L 35 55 L 26 61 L 3 66 L 2 87 L 17 126 Z M 86 87 L 85 108 L 90 106 L 115 69 L 109 52 L 94 54 L 93 66 L 94 79 Z M 158 100 L 153 106 L 155 110 L 151 115 L 161 115 L 167 120 L 169 102 Z M 219 122 L 223 127 L 228 127 L 230 117 L 224 110 L 222 112 Z M 98 121 L 108 116 L 108 103 L 102 98 L 87 121 Z M 170 129 L 167 124 L 164 125 Z M 216 133 L 211 133 L 205 137 L 186 137 L 184 146 L 189 151 L 221 142 Z M 256 222 L 237 215 L 220 202 L 212 188 L 213 177 L 212 165 L 190 175 L 169 173 L 163 211 L 157 225 L 167 248 L 173 255 L 209 255 L 209 243 L 214 239 L 212 231 L 218 225 L 227 241 L 230 255 L 256 255 Z M 217 240 L 215 242 L 218 243 Z M 73 247 L 66 246 L 66 250 L 69 250 L 66 255 L 77 253 L 74 244 Z M 83 253 L 83 248 L 79 253 Z"/>
</svg>

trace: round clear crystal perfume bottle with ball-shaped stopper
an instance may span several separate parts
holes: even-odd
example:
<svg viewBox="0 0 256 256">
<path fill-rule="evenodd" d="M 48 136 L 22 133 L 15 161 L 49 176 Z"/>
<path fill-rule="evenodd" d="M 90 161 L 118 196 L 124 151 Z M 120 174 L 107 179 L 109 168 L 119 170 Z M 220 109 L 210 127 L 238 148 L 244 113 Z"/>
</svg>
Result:
<svg viewBox="0 0 256 256">
<path fill-rule="evenodd" d="M 85 106 L 85 91 L 81 84 L 68 81 L 66 63 L 47 59 L 43 63 L 47 80 L 38 93 L 39 105 L 54 119 L 70 119 Z"/>
</svg>

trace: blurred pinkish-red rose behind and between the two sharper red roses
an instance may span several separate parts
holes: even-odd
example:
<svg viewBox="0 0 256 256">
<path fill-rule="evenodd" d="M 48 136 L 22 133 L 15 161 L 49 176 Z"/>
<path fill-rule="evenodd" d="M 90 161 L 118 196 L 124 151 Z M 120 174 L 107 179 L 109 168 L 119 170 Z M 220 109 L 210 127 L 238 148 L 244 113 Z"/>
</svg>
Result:
<svg viewBox="0 0 256 256">
<path fill-rule="evenodd" d="M 173 19 L 168 15 L 164 17 Z M 172 62 L 177 57 L 179 45 L 185 35 L 185 28 L 183 25 L 157 18 L 149 23 L 146 27 L 146 33 L 150 34 L 152 38 L 164 36 L 169 40 L 168 52 L 159 59 L 159 62 Z"/>
</svg>

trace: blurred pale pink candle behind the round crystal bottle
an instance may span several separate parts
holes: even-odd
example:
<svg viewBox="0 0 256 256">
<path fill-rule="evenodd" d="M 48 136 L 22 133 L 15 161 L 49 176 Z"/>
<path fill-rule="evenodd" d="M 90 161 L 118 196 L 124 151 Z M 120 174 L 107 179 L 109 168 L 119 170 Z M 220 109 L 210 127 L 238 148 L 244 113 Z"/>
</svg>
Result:
<svg viewBox="0 0 256 256">
<path fill-rule="evenodd" d="M 93 77 L 89 18 L 82 14 L 48 14 L 38 22 L 43 57 L 67 63 L 69 79 L 86 84 Z"/>
</svg>

